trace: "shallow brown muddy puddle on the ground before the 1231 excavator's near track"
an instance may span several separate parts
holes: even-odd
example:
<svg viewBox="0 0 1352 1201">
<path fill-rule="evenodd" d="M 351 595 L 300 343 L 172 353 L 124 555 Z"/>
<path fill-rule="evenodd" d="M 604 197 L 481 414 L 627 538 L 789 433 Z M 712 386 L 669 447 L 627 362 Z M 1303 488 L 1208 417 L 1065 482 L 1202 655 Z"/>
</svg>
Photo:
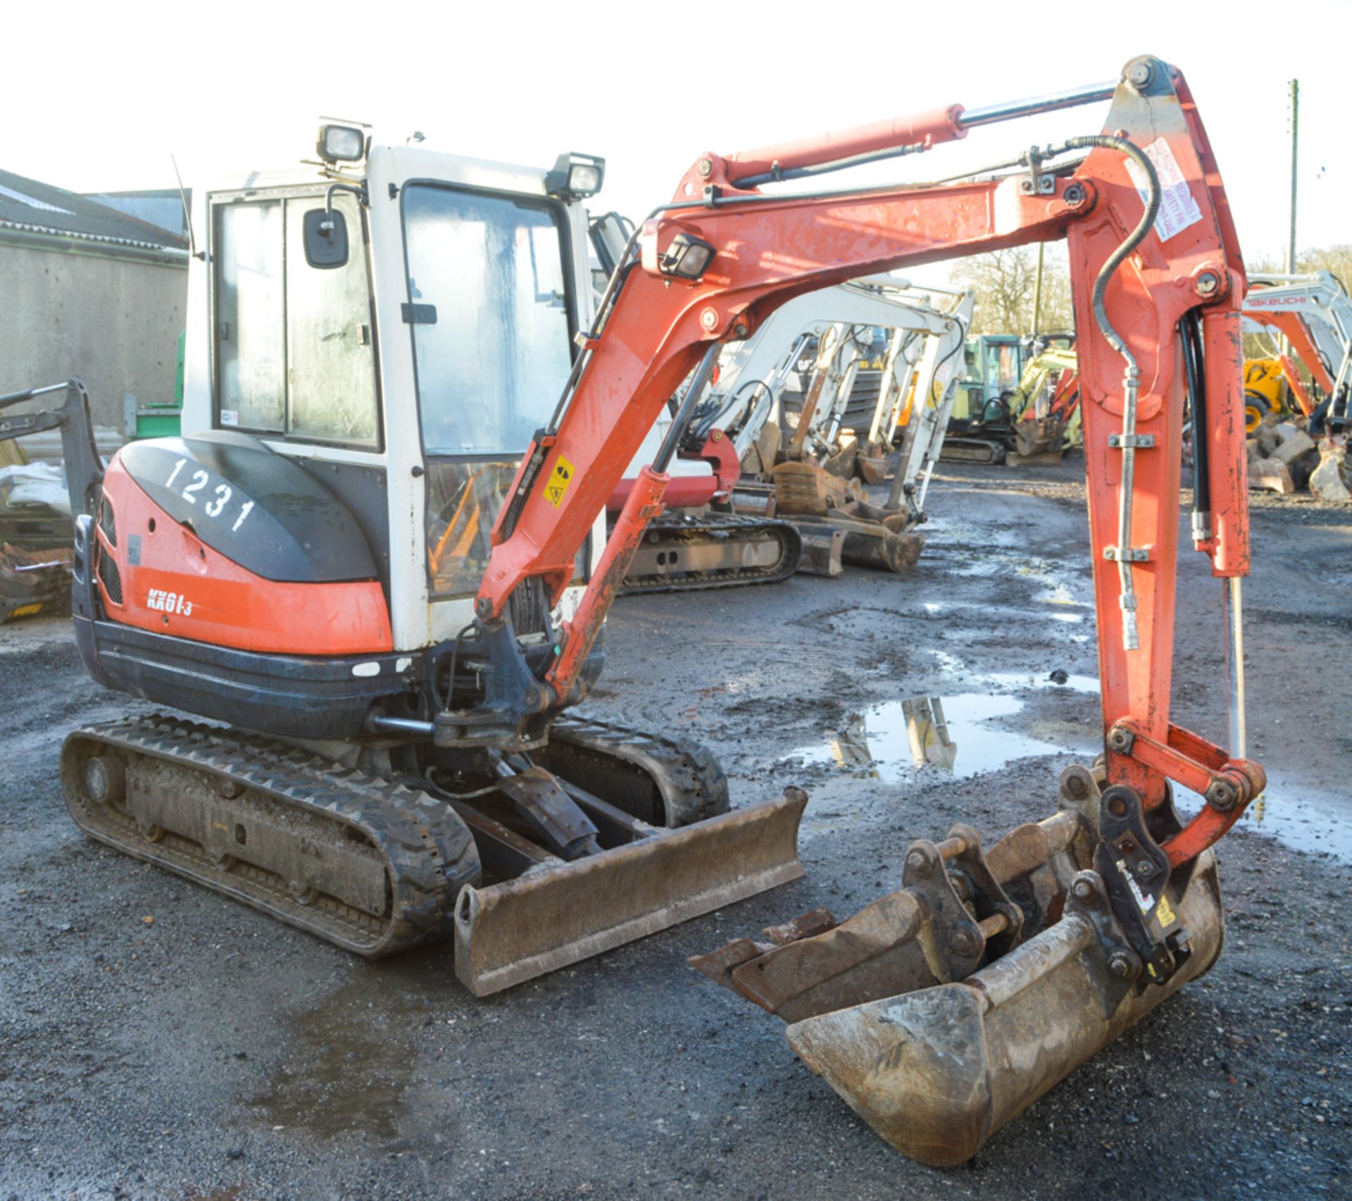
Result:
<svg viewBox="0 0 1352 1201">
<path fill-rule="evenodd" d="M 383 985 L 384 982 L 381 982 Z M 416 990 L 391 1008 L 389 989 L 364 975 L 289 1022 L 285 1056 L 268 1089 L 249 1104 L 273 1128 L 320 1139 L 362 1132 L 395 1137 L 422 1010 Z"/>
</svg>

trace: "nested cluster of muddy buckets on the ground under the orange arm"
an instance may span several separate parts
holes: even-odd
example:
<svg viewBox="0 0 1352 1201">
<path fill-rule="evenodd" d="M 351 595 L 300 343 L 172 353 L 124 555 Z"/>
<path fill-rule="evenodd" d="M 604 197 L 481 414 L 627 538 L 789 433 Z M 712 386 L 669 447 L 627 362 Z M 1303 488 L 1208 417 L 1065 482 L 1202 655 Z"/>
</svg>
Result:
<svg viewBox="0 0 1352 1201">
<path fill-rule="evenodd" d="M 1091 870 L 1098 795 L 1068 768 L 1061 810 L 988 855 L 955 826 L 913 843 L 903 887 L 854 917 L 814 910 L 691 964 L 790 1022 L 803 1063 L 898 1151 L 963 1163 L 1221 953 L 1210 851 L 1165 894 L 1172 974 L 1133 951 Z"/>
</svg>

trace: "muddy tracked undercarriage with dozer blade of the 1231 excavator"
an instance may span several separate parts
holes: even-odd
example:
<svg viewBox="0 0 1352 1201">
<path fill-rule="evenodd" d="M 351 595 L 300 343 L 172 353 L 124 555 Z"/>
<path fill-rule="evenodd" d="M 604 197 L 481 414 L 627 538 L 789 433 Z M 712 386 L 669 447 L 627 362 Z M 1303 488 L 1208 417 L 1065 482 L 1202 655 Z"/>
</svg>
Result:
<svg viewBox="0 0 1352 1201">
<path fill-rule="evenodd" d="M 454 939 L 480 995 L 802 874 L 806 795 L 729 813 L 698 745 L 569 718 L 537 757 L 461 790 L 397 745 L 345 766 L 157 715 L 76 730 L 61 779 L 92 837 L 346 951 Z"/>
</svg>

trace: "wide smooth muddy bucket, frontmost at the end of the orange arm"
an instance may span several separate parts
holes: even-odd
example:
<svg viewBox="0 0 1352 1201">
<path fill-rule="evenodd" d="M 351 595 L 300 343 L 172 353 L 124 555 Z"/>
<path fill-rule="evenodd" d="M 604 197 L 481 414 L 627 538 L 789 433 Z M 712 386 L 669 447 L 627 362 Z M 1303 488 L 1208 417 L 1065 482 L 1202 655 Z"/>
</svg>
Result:
<svg viewBox="0 0 1352 1201">
<path fill-rule="evenodd" d="M 1095 902 L 1106 908 L 1102 890 Z M 950 1167 L 1215 963 L 1224 916 L 1211 852 L 1180 914 L 1192 953 L 1163 987 L 1114 975 L 1096 914 L 1072 897 L 1056 925 L 965 981 L 807 1018 L 788 1028 L 788 1044 L 892 1147 Z"/>
</svg>

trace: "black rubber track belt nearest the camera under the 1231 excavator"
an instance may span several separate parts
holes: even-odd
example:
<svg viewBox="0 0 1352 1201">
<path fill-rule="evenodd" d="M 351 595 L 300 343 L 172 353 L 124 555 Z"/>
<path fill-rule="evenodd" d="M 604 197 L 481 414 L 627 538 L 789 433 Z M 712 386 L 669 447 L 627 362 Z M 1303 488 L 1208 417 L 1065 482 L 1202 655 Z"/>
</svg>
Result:
<svg viewBox="0 0 1352 1201">
<path fill-rule="evenodd" d="M 77 741 L 169 760 L 208 778 L 234 779 L 280 806 L 358 829 L 385 859 L 387 913 L 377 918 L 330 898 L 301 905 L 284 886 L 269 886 L 269 879 L 277 880 L 269 872 L 243 863 L 224 871 L 195 843 L 170 833 L 151 843 L 130 818 L 119 814 L 110 821 L 110 810 L 84 797 L 78 778 L 68 778 L 66 760 Z M 448 805 L 257 734 L 166 715 L 85 726 L 66 740 L 62 783 L 76 824 L 99 841 L 372 959 L 452 937 L 460 889 L 479 879 L 473 837 Z"/>
</svg>

